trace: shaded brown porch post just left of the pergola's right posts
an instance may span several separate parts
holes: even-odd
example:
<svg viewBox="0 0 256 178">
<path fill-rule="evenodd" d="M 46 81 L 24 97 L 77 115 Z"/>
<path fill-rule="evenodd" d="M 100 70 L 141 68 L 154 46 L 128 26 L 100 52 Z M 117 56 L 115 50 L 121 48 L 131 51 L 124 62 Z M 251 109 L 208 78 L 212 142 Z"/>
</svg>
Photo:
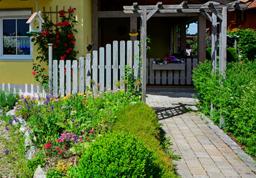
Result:
<svg viewBox="0 0 256 178">
<path fill-rule="evenodd" d="M 198 17 L 198 60 L 205 62 L 206 53 L 206 19 L 202 14 Z"/>
</svg>

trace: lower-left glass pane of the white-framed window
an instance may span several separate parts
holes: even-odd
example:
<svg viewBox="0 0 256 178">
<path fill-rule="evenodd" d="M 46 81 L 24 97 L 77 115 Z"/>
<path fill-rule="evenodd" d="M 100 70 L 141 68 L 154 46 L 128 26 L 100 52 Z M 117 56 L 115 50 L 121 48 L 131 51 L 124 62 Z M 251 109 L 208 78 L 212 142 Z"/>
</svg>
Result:
<svg viewBox="0 0 256 178">
<path fill-rule="evenodd" d="M 16 55 L 16 37 L 3 37 L 4 55 Z"/>
</svg>

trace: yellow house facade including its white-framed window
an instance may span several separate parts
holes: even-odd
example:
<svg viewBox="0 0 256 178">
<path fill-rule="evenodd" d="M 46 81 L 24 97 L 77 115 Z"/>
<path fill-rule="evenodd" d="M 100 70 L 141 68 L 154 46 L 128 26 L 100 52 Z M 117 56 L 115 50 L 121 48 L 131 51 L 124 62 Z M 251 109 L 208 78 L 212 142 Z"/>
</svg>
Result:
<svg viewBox="0 0 256 178">
<path fill-rule="evenodd" d="M 27 20 L 35 11 L 33 0 L 1 0 L 0 1 L 0 89 L 10 84 L 18 89 L 31 92 L 31 85 L 38 85 L 33 82 L 32 67 L 33 59 L 36 57 L 36 47 L 30 42 L 26 33 L 28 31 Z M 77 39 L 76 50 L 79 50 L 79 56 L 87 53 L 87 39 L 91 39 L 91 1 L 79 0 L 37 0 L 38 10 L 53 13 L 53 22 L 56 19 L 56 11 L 68 10 L 69 7 L 76 7 Z M 55 22 L 54 22 L 55 23 Z M 88 38 L 87 38 L 88 36 Z M 9 41 L 8 41 L 9 39 Z M 4 47 L 7 42 L 16 39 L 17 44 L 13 44 L 14 50 Z M 6 46 L 6 45 L 5 45 Z M 3 85 L 4 84 L 4 85 Z M 33 88 L 35 90 L 36 87 Z"/>
</svg>

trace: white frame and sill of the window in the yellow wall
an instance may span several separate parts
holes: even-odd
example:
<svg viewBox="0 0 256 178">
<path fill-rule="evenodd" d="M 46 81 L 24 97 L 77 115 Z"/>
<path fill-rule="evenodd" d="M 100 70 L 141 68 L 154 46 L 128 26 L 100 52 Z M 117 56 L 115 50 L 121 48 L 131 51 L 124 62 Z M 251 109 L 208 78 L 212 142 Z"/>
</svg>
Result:
<svg viewBox="0 0 256 178">
<path fill-rule="evenodd" d="M 4 55 L 3 54 L 3 20 L 4 19 L 29 19 L 31 10 L 0 10 L 0 62 L 32 62 L 33 61 L 33 43 L 31 42 L 30 55 Z M 31 37 L 32 39 L 32 37 Z"/>
</svg>

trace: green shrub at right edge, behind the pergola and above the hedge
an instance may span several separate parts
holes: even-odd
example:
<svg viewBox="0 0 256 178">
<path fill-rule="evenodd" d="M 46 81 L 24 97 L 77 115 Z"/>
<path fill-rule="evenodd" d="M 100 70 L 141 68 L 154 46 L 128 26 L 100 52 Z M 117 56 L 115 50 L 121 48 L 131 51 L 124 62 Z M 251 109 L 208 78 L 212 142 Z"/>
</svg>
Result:
<svg viewBox="0 0 256 178">
<path fill-rule="evenodd" d="M 239 36 L 237 38 L 237 48 L 243 58 L 248 58 L 249 49 L 256 46 L 256 33 L 253 29 L 238 29 L 237 31 L 228 31 L 230 36 Z M 254 59 L 253 59 L 254 60 Z"/>
</svg>

